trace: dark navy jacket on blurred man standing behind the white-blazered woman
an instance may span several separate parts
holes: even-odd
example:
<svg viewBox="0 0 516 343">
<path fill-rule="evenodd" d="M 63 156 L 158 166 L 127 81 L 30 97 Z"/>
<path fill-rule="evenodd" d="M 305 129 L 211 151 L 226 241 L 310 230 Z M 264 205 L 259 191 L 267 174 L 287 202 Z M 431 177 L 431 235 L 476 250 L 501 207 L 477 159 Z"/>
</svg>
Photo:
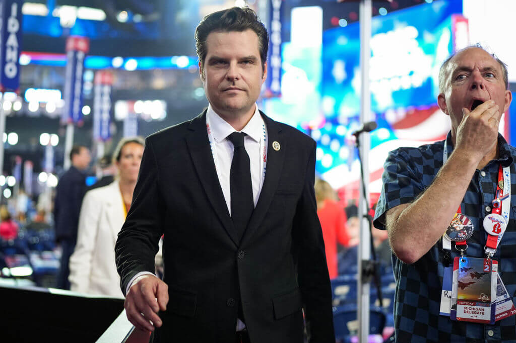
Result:
<svg viewBox="0 0 516 343">
<path fill-rule="evenodd" d="M 77 239 L 80 205 L 86 193 L 86 176 L 71 166 L 59 179 L 54 199 L 56 239 Z"/>
</svg>

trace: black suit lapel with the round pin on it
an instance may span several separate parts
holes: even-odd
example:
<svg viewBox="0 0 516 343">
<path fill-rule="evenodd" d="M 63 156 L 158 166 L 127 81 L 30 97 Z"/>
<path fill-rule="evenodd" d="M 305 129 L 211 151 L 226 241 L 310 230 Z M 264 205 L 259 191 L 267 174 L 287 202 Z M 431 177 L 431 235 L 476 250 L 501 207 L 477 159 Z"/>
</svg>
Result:
<svg viewBox="0 0 516 343">
<path fill-rule="evenodd" d="M 278 123 L 272 121 L 272 119 L 266 116 L 263 112 L 260 111 L 260 113 L 262 114 L 265 125 L 267 126 L 267 167 L 265 170 L 265 180 L 262 191 L 260 192 L 256 208 L 251 215 L 247 229 L 242 237 L 242 244 L 244 244 L 246 240 L 252 236 L 254 231 L 259 228 L 270 207 L 272 197 L 276 193 L 278 183 L 280 181 L 287 147 L 286 137 L 282 133 L 281 127 Z M 278 142 L 280 144 L 280 149 L 278 151 L 272 148 L 273 142 Z"/>
</svg>

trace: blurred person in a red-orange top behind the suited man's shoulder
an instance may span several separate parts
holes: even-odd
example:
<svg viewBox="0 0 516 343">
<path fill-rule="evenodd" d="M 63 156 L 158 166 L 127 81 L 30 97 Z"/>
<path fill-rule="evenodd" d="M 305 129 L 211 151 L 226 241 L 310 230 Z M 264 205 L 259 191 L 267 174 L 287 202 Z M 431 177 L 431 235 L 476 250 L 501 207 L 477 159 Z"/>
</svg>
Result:
<svg viewBox="0 0 516 343">
<path fill-rule="evenodd" d="M 326 250 L 326 262 L 330 279 L 337 277 L 337 242 L 347 247 L 349 236 L 346 233 L 346 215 L 337 203 L 337 195 L 330 184 L 324 180 L 315 180 L 315 199 L 317 216 L 321 223 L 322 238 Z"/>
</svg>

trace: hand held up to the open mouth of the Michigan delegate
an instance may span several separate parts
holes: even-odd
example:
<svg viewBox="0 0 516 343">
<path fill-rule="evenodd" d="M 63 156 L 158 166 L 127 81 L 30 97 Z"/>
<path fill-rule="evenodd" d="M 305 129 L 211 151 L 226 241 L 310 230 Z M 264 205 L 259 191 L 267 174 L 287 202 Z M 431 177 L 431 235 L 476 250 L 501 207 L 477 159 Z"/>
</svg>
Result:
<svg viewBox="0 0 516 343">
<path fill-rule="evenodd" d="M 493 100 L 487 100 L 473 111 L 463 108 L 462 113 L 456 148 L 481 160 L 496 146 L 502 113 Z"/>
</svg>

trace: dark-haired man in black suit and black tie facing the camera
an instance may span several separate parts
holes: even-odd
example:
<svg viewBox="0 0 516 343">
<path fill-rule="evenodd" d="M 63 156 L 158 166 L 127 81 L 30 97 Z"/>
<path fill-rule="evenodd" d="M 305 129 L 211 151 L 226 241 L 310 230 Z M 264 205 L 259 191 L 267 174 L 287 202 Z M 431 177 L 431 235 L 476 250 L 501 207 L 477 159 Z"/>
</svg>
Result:
<svg viewBox="0 0 516 343">
<path fill-rule="evenodd" d="M 268 35 L 254 11 L 196 30 L 209 101 L 147 138 L 115 247 L 128 319 L 156 342 L 334 343 L 315 142 L 260 112 Z M 164 234 L 164 281 L 154 255 Z"/>
</svg>

